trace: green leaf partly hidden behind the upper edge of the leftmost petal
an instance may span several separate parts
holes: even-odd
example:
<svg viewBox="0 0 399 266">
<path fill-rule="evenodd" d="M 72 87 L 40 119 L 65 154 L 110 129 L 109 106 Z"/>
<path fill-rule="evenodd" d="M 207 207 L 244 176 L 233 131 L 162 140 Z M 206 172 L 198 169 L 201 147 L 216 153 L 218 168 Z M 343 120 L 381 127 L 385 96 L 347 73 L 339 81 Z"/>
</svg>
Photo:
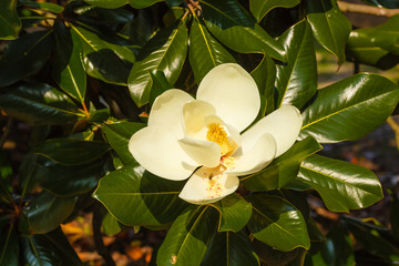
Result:
<svg viewBox="0 0 399 266">
<path fill-rule="evenodd" d="M 137 162 L 129 151 L 129 141 L 136 131 L 143 129 L 144 126 L 145 124 L 143 123 L 132 122 L 117 122 L 104 124 L 102 126 L 102 131 L 105 133 L 108 143 L 115 151 L 124 165 L 137 165 Z"/>
</svg>

